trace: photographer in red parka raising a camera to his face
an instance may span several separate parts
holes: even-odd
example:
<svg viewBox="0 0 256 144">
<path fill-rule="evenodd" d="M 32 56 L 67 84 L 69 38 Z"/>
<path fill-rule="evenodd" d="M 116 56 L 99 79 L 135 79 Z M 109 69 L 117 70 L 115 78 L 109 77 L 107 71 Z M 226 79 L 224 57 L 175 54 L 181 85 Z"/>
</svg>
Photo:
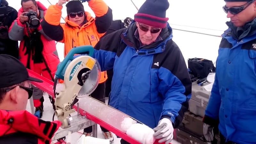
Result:
<svg viewBox="0 0 256 144">
<path fill-rule="evenodd" d="M 21 8 L 17 20 L 14 20 L 9 29 L 9 38 L 20 41 L 20 61 L 26 68 L 54 80 L 57 66 L 60 63 L 55 41 L 44 34 L 40 25 L 47 8 L 35 0 L 21 0 Z M 54 99 L 49 96 L 53 109 Z M 33 93 L 36 112 L 43 115 L 43 92 L 34 87 Z"/>
</svg>

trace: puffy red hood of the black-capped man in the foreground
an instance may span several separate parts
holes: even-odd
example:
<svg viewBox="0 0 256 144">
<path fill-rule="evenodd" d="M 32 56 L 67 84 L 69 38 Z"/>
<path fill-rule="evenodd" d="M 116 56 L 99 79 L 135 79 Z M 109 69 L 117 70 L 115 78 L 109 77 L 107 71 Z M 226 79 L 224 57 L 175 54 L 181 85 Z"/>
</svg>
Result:
<svg viewBox="0 0 256 144">
<path fill-rule="evenodd" d="M 60 127 L 60 121 L 43 121 L 26 110 L 0 110 L 0 137 L 16 132 L 30 133 L 43 141 L 51 141 L 53 134 Z"/>
</svg>

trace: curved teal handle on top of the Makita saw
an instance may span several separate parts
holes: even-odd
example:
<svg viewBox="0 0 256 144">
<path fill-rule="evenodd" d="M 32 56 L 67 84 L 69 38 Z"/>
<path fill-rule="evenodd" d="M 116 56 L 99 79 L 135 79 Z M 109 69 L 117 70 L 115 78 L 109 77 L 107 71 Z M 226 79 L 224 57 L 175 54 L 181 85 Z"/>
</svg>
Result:
<svg viewBox="0 0 256 144">
<path fill-rule="evenodd" d="M 89 56 L 92 56 L 93 52 L 94 48 L 91 45 L 78 46 L 71 49 L 64 60 L 58 65 L 57 71 L 55 73 L 56 77 L 64 80 L 66 68 L 68 67 L 68 64 L 73 60 L 73 56 L 75 54 L 88 54 Z"/>
</svg>

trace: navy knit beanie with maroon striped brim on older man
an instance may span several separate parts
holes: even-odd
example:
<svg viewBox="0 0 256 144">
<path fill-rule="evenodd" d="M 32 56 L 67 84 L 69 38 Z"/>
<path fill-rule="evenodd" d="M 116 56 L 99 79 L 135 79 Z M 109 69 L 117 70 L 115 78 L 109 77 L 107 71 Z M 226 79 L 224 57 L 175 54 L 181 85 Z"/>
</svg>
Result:
<svg viewBox="0 0 256 144">
<path fill-rule="evenodd" d="M 166 18 L 168 8 L 168 0 L 146 0 L 134 15 L 134 20 L 152 27 L 165 28 L 169 20 Z"/>
</svg>

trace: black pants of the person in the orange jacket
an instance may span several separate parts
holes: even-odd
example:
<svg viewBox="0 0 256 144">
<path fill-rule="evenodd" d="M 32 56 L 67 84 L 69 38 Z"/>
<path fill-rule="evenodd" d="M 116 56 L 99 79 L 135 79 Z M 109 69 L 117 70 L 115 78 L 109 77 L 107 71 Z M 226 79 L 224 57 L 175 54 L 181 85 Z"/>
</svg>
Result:
<svg viewBox="0 0 256 144">
<path fill-rule="evenodd" d="M 105 88 L 106 88 L 106 82 L 99 84 L 95 89 L 95 91 L 92 92 L 91 96 L 105 103 Z M 103 132 L 109 132 L 107 129 L 105 129 L 102 126 L 100 126 L 100 128 Z M 87 132 L 87 133 L 92 132 L 92 126 L 85 128 L 84 132 Z"/>
</svg>

